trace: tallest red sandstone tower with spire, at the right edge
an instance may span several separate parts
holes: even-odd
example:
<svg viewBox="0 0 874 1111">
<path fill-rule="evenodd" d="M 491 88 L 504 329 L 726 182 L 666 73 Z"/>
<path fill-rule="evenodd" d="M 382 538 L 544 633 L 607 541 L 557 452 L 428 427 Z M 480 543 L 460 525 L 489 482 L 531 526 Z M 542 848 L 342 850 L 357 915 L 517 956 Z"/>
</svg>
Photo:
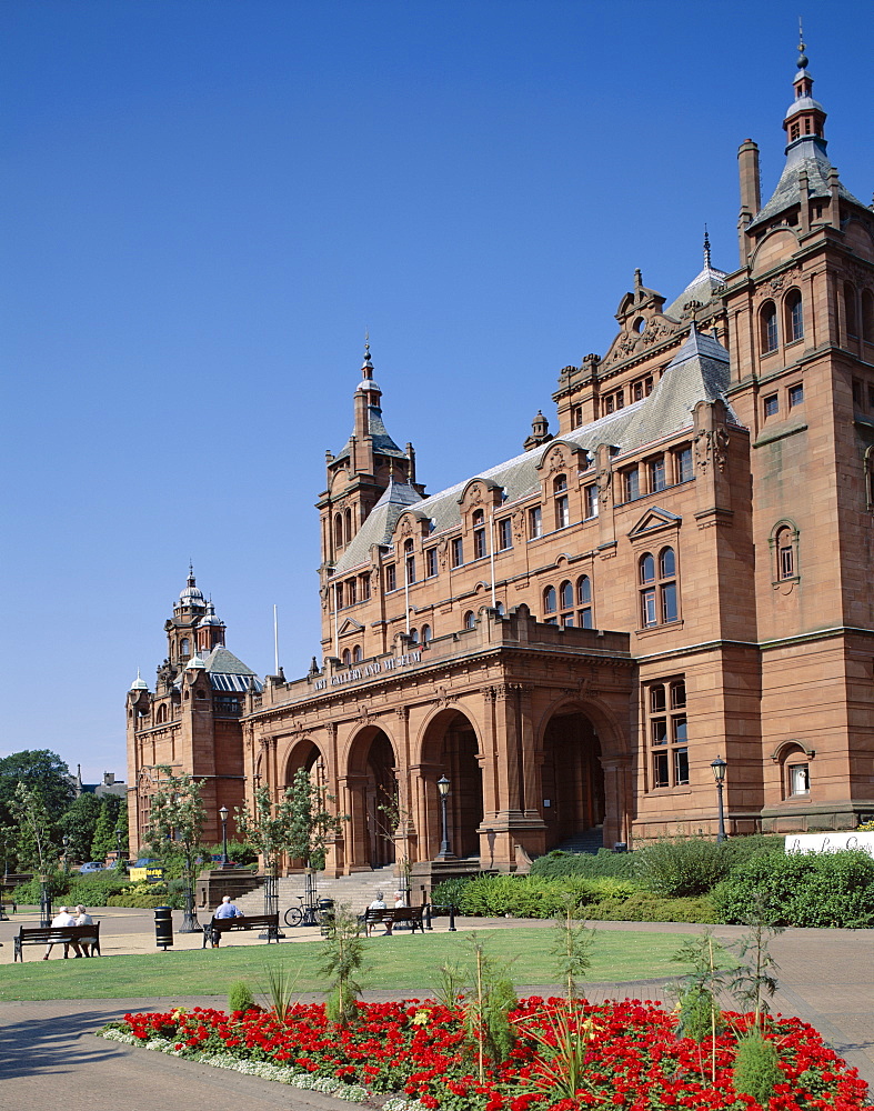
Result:
<svg viewBox="0 0 874 1111">
<path fill-rule="evenodd" d="M 851 821 L 874 755 L 860 685 L 874 651 L 874 214 L 828 160 L 803 42 L 797 71 L 763 208 L 757 147 L 740 149 L 741 269 L 724 294 L 727 398 L 751 431 L 766 827 L 768 803 L 814 775 L 823 812 Z"/>
</svg>

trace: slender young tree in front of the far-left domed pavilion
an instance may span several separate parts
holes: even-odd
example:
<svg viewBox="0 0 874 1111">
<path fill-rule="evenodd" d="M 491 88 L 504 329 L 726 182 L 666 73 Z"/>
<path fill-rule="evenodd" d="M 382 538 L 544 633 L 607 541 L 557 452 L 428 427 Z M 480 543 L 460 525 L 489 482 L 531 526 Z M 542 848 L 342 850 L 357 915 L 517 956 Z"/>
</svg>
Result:
<svg viewBox="0 0 874 1111">
<path fill-rule="evenodd" d="M 174 853 L 182 858 L 185 912 L 180 933 L 197 933 L 200 924 L 194 913 L 194 872 L 207 821 L 201 799 L 203 783 L 187 772 L 174 775 L 167 764 L 159 767 L 158 772 L 160 778 L 151 798 L 147 837 L 160 859 L 167 860 Z"/>
</svg>

